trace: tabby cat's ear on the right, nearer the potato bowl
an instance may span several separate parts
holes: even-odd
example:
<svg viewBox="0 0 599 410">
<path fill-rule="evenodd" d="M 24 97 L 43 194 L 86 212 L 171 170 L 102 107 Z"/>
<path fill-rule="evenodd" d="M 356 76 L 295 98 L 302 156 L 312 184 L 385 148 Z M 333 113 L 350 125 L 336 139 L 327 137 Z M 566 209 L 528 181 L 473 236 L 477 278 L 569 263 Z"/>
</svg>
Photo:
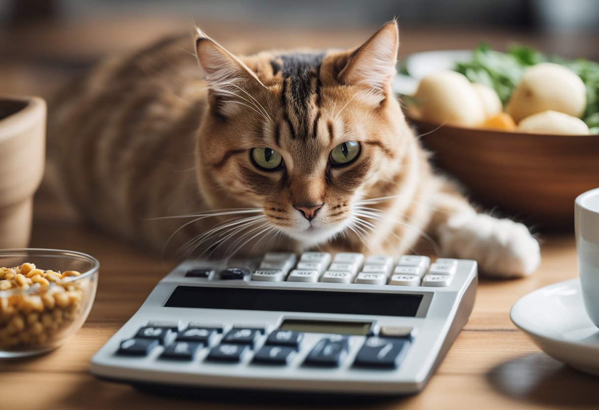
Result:
<svg viewBox="0 0 599 410">
<path fill-rule="evenodd" d="M 386 94 L 395 74 L 399 46 L 399 29 L 392 20 L 351 53 L 337 80 L 346 85 L 365 85 Z"/>
</svg>

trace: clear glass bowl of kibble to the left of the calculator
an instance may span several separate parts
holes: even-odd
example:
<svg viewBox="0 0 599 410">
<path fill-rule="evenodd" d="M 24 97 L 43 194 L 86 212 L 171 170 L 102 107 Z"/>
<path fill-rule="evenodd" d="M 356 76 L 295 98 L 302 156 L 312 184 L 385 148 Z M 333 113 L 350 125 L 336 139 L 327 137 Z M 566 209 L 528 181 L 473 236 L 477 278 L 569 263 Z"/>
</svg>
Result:
<svg viewBox="0 0 599 410">
<path fill-rule="evenodd" d="M 98 285 L 99 262 L 57 249 L 0 250 L 0 268 L 32 263 L 41 270 L 77 271 L 49 284 L 0 290 L 0 358 L 25 357 L 58 348 L 83 325 Z"/>
</svg>

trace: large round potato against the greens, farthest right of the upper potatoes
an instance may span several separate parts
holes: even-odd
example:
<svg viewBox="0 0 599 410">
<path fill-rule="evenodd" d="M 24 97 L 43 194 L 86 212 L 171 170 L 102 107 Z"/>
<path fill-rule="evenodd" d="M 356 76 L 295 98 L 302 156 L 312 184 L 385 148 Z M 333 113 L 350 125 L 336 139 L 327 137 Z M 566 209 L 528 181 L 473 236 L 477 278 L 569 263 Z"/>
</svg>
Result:
<svg viewBox="0 0 599 410">
<path fill-rule="evenodd" d="M 541 63 L 528 68 L 510 96 L 506 112 L 516 122 L 542 111 L 582 116 L 586 106 L 585 84 L 568 68 Z"/>
</svg>

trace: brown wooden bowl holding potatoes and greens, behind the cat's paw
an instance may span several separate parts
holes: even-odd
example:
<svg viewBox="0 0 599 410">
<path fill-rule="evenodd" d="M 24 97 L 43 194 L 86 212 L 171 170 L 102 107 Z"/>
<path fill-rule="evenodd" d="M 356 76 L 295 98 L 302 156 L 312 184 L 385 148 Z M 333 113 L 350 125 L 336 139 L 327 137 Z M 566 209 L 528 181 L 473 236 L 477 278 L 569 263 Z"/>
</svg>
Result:
<svg viewBox="0 0 599 410">
<path fill-rule="evenodd" d="M 472 199 L 540 230 L 571 229 L 574 199 L 599 186 L 599 135 L 543 135 L 412 119 L 438 168 Z"/>
</svg>

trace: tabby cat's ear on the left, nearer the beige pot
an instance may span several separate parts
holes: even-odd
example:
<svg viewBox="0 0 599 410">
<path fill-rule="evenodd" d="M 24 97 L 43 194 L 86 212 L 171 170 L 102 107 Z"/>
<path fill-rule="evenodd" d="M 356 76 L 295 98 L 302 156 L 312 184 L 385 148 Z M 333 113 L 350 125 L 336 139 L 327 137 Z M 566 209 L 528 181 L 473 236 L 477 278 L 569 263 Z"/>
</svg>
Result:
<svg viewBox="0 0 599 410">
<path fill-rule="evenodd" d="M 210 104 L 223 116 L 240 110 L 247 88 L 262 86 L 256 74 L 216 41 L 196 29 L 196 53 L 199 66 L 209 84 Z"/>
</svg>

